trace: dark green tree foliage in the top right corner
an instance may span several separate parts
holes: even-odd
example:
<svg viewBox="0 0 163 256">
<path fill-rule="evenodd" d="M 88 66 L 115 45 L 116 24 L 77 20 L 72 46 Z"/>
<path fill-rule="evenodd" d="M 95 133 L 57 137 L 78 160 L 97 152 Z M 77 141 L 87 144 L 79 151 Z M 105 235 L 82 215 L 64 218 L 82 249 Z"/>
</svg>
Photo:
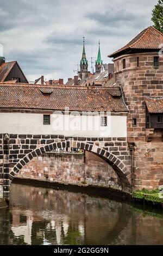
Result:
<svg viewBox="0 0 163 256">
<path fill-rule="evenodd" d="M 163 33 L 163 0 L 159 0 L 152 11 L 152 19 L 154 27 Z"/>
</svg>

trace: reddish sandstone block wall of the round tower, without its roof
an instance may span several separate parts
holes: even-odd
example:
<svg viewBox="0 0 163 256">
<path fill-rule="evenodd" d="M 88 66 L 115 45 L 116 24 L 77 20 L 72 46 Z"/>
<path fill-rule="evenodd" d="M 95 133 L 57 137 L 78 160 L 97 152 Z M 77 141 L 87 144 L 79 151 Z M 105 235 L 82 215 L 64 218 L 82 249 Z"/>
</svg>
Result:
<svg viewBox="0 0 163 256">
<path fill-rule="evenodd" d="M 133 184 L 134 188 L 158 188 L 163 185 L 163 152 L 160 130 L 146 129 L 144 95 L 163 95 L 163 57 L 159 67 L 154 68 L 153 57 L 158 53 L 128 54 L 114 60 L 115 82 L 121 86 L 124 100 L 129 108 L 127 137 L 134 143 Z M 139 57 L 139 67 L 137 67 Z M 126 69 L 123 69 L 123 59 Z M 133 126 L 133 118 L 137 124 Z"/>
</svg>

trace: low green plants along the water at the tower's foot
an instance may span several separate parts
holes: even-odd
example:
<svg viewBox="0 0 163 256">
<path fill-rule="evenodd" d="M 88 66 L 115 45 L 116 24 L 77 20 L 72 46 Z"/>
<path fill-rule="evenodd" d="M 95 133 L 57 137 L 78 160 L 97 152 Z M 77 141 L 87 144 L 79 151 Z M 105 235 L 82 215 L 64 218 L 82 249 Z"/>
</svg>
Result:
<svg viewBox="0 0 163 256">
<path fill-rule="evenodd" d="M 159 198 L 159 192 L 158 189 L 149 191 L 143 188 L 142 190 L 134 191 L 132 197 L 136 199 L 144 199 L 153 203 L 163 203 L 163 199 Z"/>
</svg>

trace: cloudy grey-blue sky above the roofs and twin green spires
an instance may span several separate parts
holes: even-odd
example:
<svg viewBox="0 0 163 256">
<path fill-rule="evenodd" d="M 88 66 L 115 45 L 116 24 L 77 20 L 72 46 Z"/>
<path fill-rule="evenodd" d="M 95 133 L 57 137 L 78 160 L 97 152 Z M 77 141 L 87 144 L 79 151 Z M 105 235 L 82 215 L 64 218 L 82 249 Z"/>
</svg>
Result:
<svg viewBox="0 0 163 256">
<path fill-rule="evenodd" d="M 158 0 L 0 0 L 0 43 L 6 62 L 17 60 L 29 81 L 77 75 L 83 36 L 91 71 L 101 42 L 103 63 L 153 25 Z"/>
</svg>

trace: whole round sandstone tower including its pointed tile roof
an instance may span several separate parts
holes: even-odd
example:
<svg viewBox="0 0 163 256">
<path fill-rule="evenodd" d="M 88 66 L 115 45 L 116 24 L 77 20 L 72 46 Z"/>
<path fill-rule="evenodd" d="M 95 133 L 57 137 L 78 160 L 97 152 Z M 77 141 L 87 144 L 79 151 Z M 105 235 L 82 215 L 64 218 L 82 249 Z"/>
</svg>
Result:
<svg viewBox="0 0 163 256">
<path fill-rule="evenodd" d="M 116 86 L 122 88 L 129 109 L 127 141 L 135 189 L 163 185 L 162 42 L 163 34 L 148 27 L 109 56 L 114 58 Z"/>
</svg>

